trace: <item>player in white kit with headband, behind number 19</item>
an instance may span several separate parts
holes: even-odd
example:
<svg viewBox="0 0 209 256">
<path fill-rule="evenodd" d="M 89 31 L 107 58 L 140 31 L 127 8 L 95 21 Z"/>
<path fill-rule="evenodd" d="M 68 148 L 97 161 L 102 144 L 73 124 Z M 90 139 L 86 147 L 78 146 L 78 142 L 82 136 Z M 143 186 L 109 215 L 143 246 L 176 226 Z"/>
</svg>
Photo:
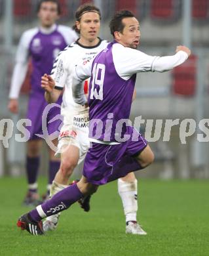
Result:
<svg viewBox="0 0 209 256">
<path fill-rule="evenodd" d="M 64 125 L 60 131 L 58 142 L 58 152 L 61 153 L 61 165 L 53 181 L 50 196 L 56 194 L 69 184 L 69 177 L 73 169 L 84 160 L 89 148 L 88 140 L 88 108 L 76 104 L 72 96 L 72 75 L 76 63 L 88 63 L 94 56 L 105 47 L 107 41 L 98 37 L 100 32 L 100 10 L 94 5 L 81 5 L 75 13 L 75 30 L 80 37 L 71 46 L 56 58 L 56 65 L 52 70 L 52 75 L 45 75 L 42 78 L 43 88 L 46 89 L 48 102 L 56 102 L 65 87 L 62 103 L 62 115 Z M 50 85 L 52 87 L 50 87 Z M 49 91 L 48 91 L 49 89 Z M 88 91 L 88 81 L 85 81 L 85 91 Z M 137 223 L 136 213 L 137 202 L 137 180 L 134 173 L 129 173 L 126 177 L 119 179 L 118 190 L 123 202 L 124 214 L 126 215 L 126 231 L 132 234 L 146 234 Z M 90 196 L 80 200 L 81 207 L 89 211 Z M 45 231 L 54 230 L 58 224 L 59 215 L 47 218 L 43 227 Z"/>
</svg>

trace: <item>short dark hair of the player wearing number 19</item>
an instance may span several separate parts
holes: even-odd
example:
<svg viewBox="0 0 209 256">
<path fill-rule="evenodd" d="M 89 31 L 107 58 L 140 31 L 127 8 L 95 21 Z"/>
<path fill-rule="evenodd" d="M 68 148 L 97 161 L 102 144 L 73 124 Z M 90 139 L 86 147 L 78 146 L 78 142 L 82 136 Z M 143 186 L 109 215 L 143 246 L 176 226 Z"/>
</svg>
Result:
<svg viewBox="0 0 209 256">
<path fill-rule="evenodd" d="M 132 18 L 135 17 L 132 12 L 123 10 L 116 12 L 111 21 L 109 22 L 110 32 L 114 37 L 114 32 L 123 32 L 124 24 L 122 22 L 123 18 Z"/>
</svg>

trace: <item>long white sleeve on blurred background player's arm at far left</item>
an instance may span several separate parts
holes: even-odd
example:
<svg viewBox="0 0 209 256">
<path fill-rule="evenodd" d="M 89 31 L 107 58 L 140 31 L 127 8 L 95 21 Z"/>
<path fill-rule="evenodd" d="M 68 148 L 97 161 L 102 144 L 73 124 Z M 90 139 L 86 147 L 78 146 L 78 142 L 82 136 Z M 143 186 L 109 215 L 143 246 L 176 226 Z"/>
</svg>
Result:
<svg viewBox="0 0 209 256">
<path fill-rule="evenodd" d="M 9 98 L 18 98 L 20 89 L 26 77 L 29 57 L 29 43 L 27 33 L 23 33 L 16 52 L 15 66 L 12 73 Z"/>
</svg>

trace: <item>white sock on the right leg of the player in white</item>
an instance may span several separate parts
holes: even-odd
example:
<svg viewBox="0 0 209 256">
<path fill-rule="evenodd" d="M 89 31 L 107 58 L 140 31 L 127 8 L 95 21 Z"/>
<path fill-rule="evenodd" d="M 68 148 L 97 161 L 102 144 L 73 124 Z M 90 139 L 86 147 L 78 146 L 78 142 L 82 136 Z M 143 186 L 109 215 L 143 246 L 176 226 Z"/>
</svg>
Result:
<svg viewBox="0 0 209 256">
<path fill-rule="evenodd" d="M 137 180 L 126 182 L 118 179 L 118 192 L 123 202 L 124 215 L 127 221 L 136 221 L 136 213 L 138 210 L 137 202 Z"/>
</svg>

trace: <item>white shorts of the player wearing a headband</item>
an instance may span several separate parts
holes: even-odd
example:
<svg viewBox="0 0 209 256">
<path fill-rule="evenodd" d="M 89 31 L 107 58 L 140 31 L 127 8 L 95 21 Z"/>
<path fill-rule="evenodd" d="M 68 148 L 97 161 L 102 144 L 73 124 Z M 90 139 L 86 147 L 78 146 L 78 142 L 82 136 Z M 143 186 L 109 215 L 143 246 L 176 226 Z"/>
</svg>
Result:
<svg viewBox="0 0 209 256">
<path fill-rule="evenodd" d="M 88 139 L 88 110 L 82 114 L 70 114 L 67 110 L 62 110 L 64 117 L 63 126 L 58 138 L 58 150 L 55 156 L 60 155 L 69 145 L 79 148 L 79 163 L 85 159 L 90 142 Z"/>
</svg>

